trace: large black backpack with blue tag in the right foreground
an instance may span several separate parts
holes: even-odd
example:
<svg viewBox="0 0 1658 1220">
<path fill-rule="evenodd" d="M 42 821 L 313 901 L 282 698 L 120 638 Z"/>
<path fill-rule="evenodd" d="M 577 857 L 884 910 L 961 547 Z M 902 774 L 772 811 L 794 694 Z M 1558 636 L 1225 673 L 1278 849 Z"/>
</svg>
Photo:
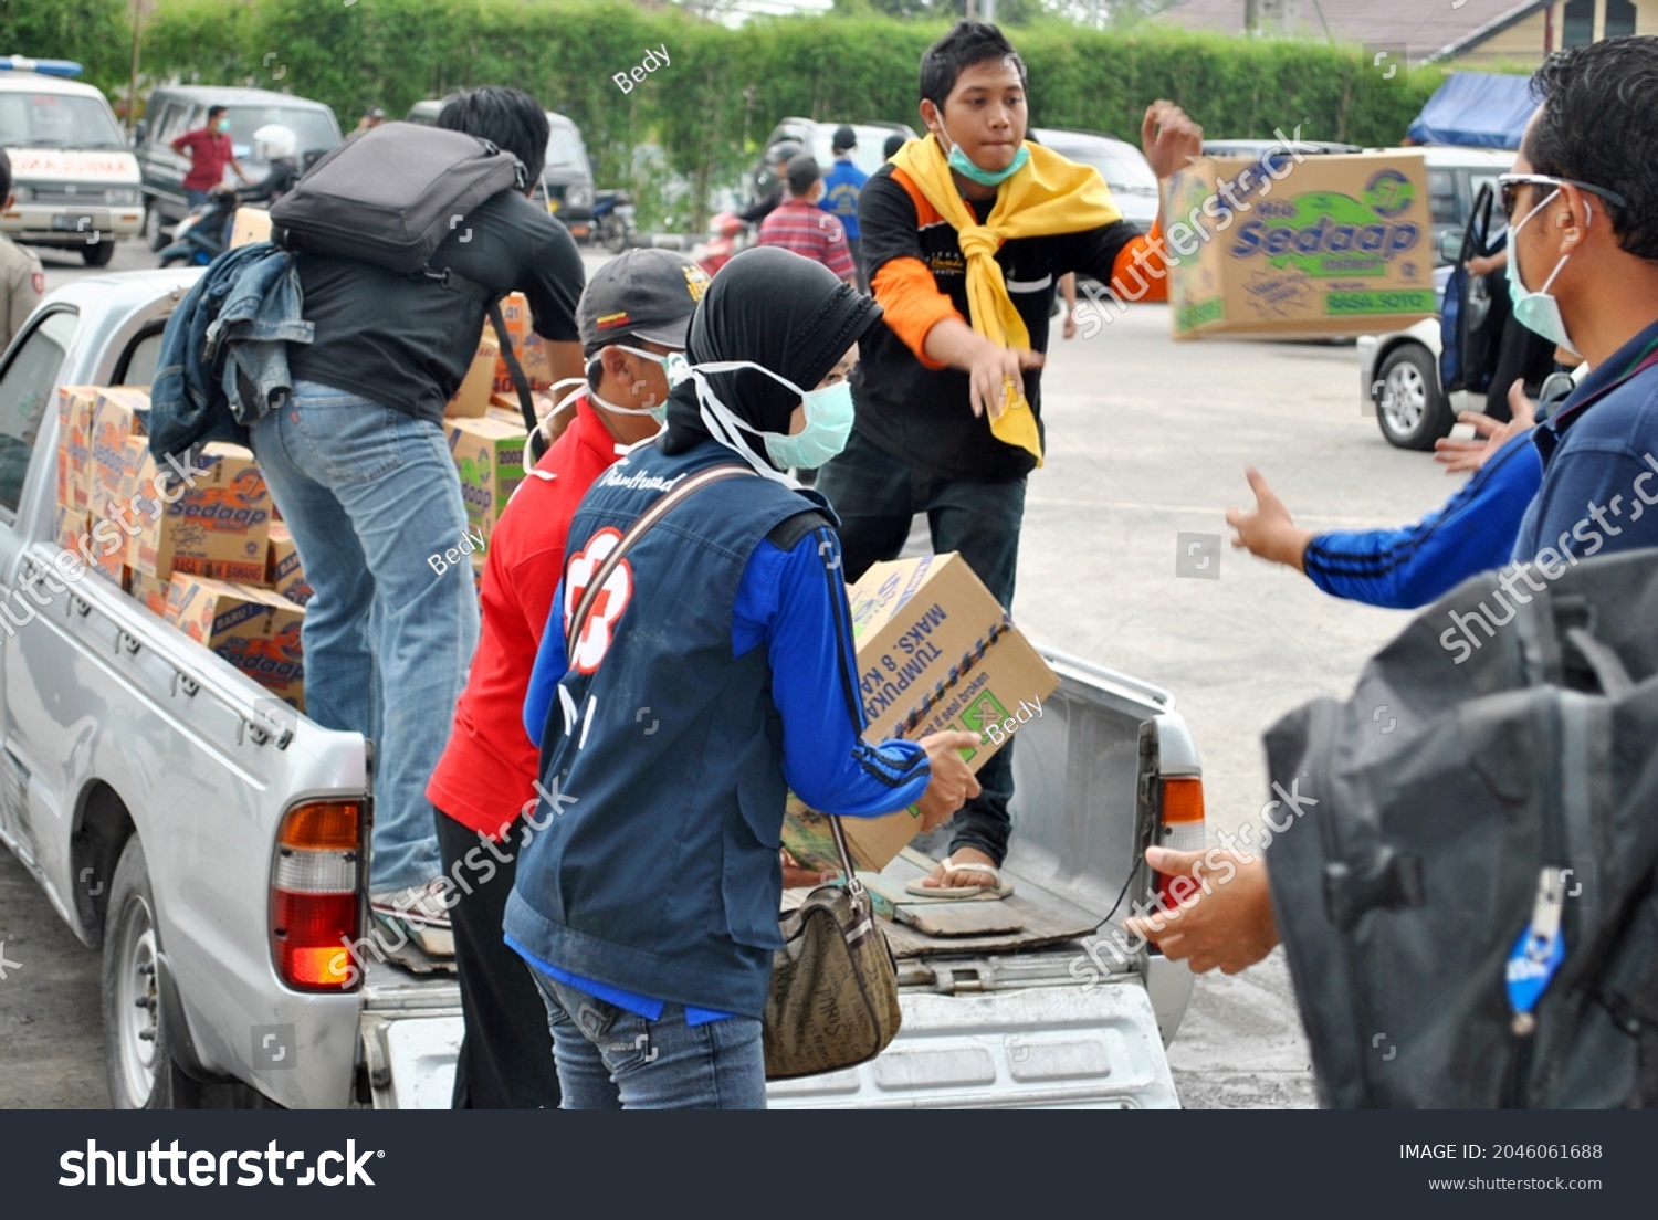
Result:
<svg viewBox="0 0 1658 1220">
<path fill-rule="evenodd" d="M 1326 1106 L 1658 1104 L 1658 550 L 1535 583 L 1467 580 L 1267 734 Z"/>
</svg>

